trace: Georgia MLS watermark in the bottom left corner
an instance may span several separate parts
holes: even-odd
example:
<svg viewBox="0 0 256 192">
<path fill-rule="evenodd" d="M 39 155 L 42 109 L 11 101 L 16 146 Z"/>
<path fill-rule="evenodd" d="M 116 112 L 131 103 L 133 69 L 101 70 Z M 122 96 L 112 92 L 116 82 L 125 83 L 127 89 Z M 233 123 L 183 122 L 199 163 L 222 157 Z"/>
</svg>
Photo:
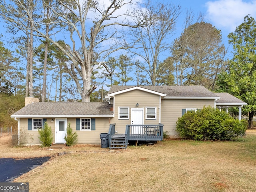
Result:
<svg viewBox="0 0 256 192">
<path fill-rule="evenodd" d="M 28 192 L 28 183 L 0 183 L 0 192 Z"/>
</svg>

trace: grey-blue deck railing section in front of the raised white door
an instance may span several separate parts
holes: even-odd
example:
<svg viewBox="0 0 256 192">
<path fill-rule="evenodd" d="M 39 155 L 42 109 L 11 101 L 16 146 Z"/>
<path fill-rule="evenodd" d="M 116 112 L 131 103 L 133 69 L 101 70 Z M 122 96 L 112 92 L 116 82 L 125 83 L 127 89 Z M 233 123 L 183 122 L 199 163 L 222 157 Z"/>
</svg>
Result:
<svg viewBox="0 0 256 192">
<path fill-rule="evenodd" d="M 163 124 L 126 125 L 127 140 L 160 141 L 163 140 Z"/>
</svg>

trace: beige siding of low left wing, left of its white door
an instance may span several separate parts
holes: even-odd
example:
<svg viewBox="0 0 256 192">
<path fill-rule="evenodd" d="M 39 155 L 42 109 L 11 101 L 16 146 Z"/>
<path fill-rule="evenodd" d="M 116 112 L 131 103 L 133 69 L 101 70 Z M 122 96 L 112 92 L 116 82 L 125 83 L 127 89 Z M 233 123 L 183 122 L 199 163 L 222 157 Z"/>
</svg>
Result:
<svg viewBox="0 0 256 192">
<path fill-rule="evenodd" d="M 35 118 L 37 119 L 37 118 Z M 53 141 L 55 141 L 55 120 L 47 118 L 46 122 L 52 129 Z M 40 144 L 38 130 L 28 130 L 28 118 L 20 118 L 20 145 Z"/>
</svg>

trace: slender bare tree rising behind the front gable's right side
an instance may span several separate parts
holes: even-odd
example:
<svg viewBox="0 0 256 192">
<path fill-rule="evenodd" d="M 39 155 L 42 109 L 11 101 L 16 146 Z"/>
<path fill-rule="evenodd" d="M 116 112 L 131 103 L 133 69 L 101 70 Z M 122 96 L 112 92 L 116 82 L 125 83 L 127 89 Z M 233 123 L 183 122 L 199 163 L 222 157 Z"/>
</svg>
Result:
<svg viewBox="0 0 256 192">
<path fill-rule="evenodd" d="M 132 52 L 142 58 L 147 64 L 143 70 L 149 74 L 151 84 L 156 85 L 159 66 L 159 56 L 170 49 L 170 37 L 174 34 L 176 22 L 180 14 L 180 6 L 174 4 L 151 3 L 144 4 L 138 18 L 143 18 L 146 22 L 140 28 L 132 31 L 136 50 Z"/>
</svg>

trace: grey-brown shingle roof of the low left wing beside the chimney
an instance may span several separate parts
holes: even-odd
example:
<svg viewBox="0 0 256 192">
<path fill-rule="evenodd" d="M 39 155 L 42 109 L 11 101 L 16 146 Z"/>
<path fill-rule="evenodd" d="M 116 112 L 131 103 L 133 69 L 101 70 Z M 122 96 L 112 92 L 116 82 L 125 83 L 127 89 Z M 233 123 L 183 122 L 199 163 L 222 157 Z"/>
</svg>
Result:
<svg viewBox="0 0 256 192">
<path fill-rule="evenodd" d="M 52 115 L 52 116 L 86 116 L 86 115 L 112 115 L 108 102 L 36 102 L 28 104 L 12 116 L 19 115 Z"/>
</svg>

